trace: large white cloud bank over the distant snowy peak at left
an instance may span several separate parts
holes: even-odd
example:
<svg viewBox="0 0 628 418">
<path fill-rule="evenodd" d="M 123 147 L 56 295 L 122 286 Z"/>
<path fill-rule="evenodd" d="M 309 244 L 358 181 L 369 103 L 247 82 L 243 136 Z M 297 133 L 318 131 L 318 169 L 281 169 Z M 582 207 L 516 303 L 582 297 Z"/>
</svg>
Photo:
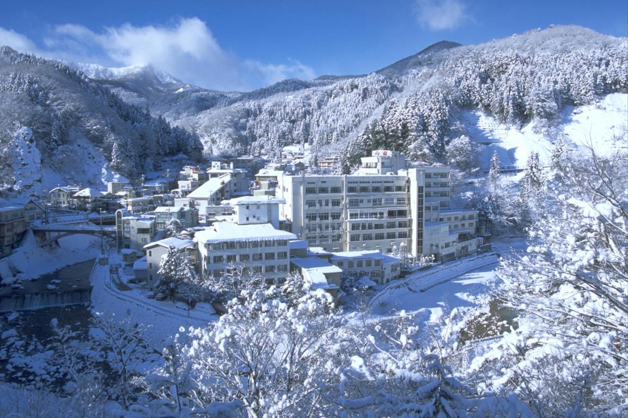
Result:
<svg viewBox="0 0 628 418">
<path fill-rule="evenodd" d="M 8 35 L 4 35 L 4 34 Z M 0 45 L 36 51 L 23 35 L 0 28 Z M 313 70 L 296 60 L 288 63 L 242 62 L 222 49 L 198 18 L 180 18 L 163 26 L 126 23 L 92 31 L 79 24 L 62 24 L 43 38 L 40 55 L 106 67 L 153 64 L 188 83 L 220 90 L 250 90 L 284 78 L 313 78 Z"/>
</svg>

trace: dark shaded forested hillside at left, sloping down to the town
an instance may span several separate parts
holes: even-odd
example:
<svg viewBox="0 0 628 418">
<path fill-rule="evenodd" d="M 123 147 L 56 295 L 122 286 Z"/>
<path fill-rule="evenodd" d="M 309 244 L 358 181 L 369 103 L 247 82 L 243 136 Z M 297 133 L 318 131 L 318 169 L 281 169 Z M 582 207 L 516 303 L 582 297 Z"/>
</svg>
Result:
<svg viewBox="0 0 628 418">
<path fill-rule="evenodd" d="M 83 73 L 8 47 L 0 48 L 0 114 L 4 193 L 33 188 L 41 173 L 57 181 L 96 183 L 94 173 L 102 170 L 132 176 L 159 166 L 163 156 L 197 158 L 202 151 L 196 135 L 127 104 Z M 30 129 L 28 142 L 35 141 L 40 153 L 38 161 L 28 159 L 41 163 L 28 167 L 39 178 L 22 176 L 27 151 L 19 145 L 20 128 Z"/>
</svg>

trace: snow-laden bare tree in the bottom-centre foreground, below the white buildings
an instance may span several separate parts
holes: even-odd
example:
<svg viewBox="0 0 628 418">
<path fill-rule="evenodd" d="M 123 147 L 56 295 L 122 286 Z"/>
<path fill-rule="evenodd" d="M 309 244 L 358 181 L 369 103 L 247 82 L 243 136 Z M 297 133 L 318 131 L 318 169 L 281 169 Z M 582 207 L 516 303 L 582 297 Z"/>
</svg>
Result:
<svg viewBox="0 0 628 418">
<path fill-rule="evenodd" d="M 178 375 L 189 367 L 189 385 L 170 389 L 181 380 L 173 378 L 174 366 L 154 370 L 149 383 L 176 412 L 179 405 L 203 412 L 212 402 L 249 416 L 322 412 L 321 390 L 335 378 L 330 360 L 340 320 L 330 295 L 312 292 L 294 307 L 279 301 L 275 287 L 246 296 L 231 301 L 216 323 L 190 331 L 176 357 Z"/>
</svg>

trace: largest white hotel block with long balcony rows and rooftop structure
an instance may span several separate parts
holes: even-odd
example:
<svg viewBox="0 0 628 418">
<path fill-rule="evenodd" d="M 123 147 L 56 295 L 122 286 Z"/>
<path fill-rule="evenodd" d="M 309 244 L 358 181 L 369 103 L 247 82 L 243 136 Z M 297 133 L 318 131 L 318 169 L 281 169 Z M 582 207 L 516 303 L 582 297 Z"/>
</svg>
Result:
<svg viewBox="0 0 628 418">
<path fill-rule="evenodd" d="M 290 221 L 291 232 L 310 247 L 390 254 L 406 245 L 413 257 L 447 260 L 481 244 L 474 234 L 475 222 L 468 222 L 469 216 L 477 218 L 475 211 L 462 211 L 464 229 L 462 221 L 456 223 L 453 217 L 448 221 L 445 215 L 446 237 L 438 223 L 440 213 L 451 210 L 449 172 L 450 168 L 438 166 L 407 169 L 398 152 L 373 151 L 352 175 L 282 174 L 276 196 L 286 203 L 279 206 L 279 217 Z"/>
</svg>

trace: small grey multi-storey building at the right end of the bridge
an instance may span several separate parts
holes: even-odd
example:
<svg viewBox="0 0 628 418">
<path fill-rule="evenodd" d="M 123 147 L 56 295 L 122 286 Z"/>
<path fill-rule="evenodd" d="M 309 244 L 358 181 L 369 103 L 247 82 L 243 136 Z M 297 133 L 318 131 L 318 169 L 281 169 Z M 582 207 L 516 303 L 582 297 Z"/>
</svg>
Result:
<svg viewBox="0 0 628 418">
<path fill-rule="evenodd" d="M 116 239 L 118 250 L 142 251 L 144 245 L 153 241 L 156 234 L 153 218 L 131 215 L 127 210 L 116 211 Z"/>
</svg>

